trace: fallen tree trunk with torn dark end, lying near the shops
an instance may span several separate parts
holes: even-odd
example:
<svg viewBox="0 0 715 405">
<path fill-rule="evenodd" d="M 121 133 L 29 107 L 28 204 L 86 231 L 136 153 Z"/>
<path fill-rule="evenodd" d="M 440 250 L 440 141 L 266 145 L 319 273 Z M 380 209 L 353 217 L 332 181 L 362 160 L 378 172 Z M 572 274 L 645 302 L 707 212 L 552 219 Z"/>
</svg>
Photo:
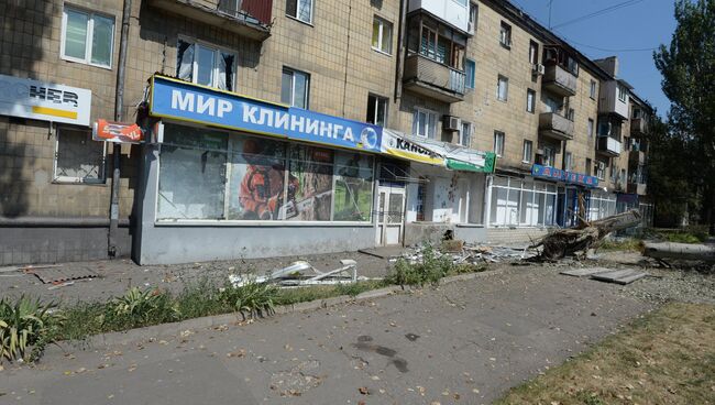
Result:
<svg viewBox="0 0 715 405">
<path fill-rule="evenodd" d="M 627 229 L 640 223 L 640 212 L 637 209 L 606 217 L 595 221 L 585 221 L 576 228 L 559 229 L 546 237 L 531 248 L 542 247 L 537 260 L 559 260 L 566 255 L 584 255 L 610 232 Z"/>
</svg>

